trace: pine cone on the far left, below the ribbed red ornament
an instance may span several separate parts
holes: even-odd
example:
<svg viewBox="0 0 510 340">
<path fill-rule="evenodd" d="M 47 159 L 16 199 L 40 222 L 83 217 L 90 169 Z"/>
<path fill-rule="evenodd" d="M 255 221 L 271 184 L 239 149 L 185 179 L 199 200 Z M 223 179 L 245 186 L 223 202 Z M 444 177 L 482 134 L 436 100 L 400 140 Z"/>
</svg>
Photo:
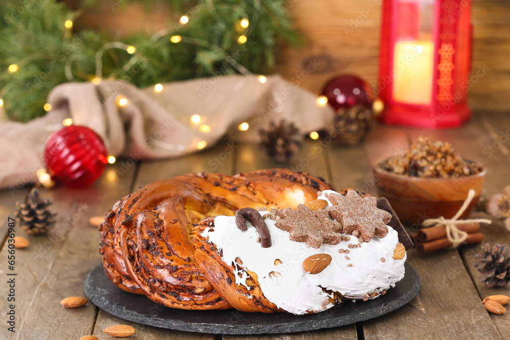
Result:
<svg viewBox="0 0 510 340">
<path fill-rule="evenodd" d="M 52 204 L 49 199 L 40 199 L 37 189 L 32 189 L 25 202 L 16 202 L 16 220 L 29 235 L 39 235 L 55 224 L 55 215 L 48 210 Z"/>
</svg>

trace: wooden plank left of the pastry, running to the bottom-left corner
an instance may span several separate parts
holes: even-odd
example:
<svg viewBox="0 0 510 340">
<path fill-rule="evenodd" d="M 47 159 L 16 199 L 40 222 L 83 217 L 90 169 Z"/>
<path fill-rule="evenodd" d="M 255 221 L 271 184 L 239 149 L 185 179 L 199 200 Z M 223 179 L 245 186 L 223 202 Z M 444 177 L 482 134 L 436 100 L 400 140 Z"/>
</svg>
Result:
<svg viewBox="0 0 510 340">
<path fill-rule="evenodd" d="M 96 307 L 92 303 L 66 309 L 60 301 L 84 296 L 83 282 L 100 263 L 99 233 L 91 216 L 104 215 L 131 185 L 134 169 L 117 179 L 118 165 L 109 166 L 92 186 L 82 190 L 40 189 L 54 200 L 57 223 L 47 236 L 29 237 L 30 246 L 16 250 L 16 333 L 6 339 L 71 339 L 92 332 Z M 7 258 L 3 248 L 0 257 Z M 7 296 L 8 285 L 0 286 Z"/>
</svg>

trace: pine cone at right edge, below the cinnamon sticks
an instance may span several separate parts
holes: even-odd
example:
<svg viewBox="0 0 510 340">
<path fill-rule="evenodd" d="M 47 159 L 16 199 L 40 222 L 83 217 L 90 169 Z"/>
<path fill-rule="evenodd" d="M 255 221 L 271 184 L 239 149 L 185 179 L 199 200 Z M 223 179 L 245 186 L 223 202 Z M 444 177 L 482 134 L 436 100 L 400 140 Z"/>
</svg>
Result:
<svg viewBox="0 0 510 340">
<path fill-rule="evenodd" d="M 481 253 L 475 255 L 481 258 L 474 263 L 481 273 L 479 281 L 485 282 L 489 288 L 494 286 L 504 286 L 510 281 L 510 257 L 506 245 L 500 246 L 499 243 L 490 247 L 487 243 L 483 246 Z"/>
</svg>

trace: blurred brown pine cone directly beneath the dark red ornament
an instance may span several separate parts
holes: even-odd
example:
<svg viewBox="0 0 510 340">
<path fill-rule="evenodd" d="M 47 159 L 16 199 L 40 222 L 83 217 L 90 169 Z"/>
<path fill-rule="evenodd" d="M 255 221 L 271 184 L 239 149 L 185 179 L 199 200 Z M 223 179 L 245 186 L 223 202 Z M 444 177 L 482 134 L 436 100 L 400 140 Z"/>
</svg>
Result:
<svg viewBox="0 0 510 340">
<path fill-rule="evenodd" d="M 372 116 L 372 110 L 363 106 L 339 109 L 333 119 L 334 132 L 337 135 L 335 142 L 346 145 L 361 143 L 370 130 Z"/>
</svg>

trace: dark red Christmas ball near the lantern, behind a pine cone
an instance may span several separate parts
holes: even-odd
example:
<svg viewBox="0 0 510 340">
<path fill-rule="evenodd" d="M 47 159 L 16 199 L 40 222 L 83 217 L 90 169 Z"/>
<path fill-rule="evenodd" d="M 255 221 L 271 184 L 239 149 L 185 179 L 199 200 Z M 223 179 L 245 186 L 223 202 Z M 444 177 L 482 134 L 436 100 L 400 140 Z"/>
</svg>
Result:
<svg viewBox="0 0 510 340">
<path fill-rule="evenodd" d="M 344 74 L 330 79 L 322 89 L 322 95 L 327 98 L 333 109 L 350 109 L 360 105 L 367 109 L 372 107 L 372 89 L 360 77 Z"/>
</svg>

